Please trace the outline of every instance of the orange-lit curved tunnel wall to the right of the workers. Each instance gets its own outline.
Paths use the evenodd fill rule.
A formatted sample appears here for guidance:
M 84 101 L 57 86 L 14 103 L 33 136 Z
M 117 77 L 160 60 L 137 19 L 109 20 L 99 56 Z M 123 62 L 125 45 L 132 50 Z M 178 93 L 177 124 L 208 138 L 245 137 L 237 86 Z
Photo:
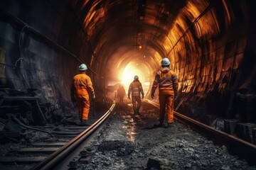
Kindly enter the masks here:
M 181 12 L 188 30 L 177 26 L 183 36 L 170 53 L 179 77 L 179 111 L 204 123 L 210 116 L 255 123 L 254 3 L 225 3 L 211 1 L 196 22 Z

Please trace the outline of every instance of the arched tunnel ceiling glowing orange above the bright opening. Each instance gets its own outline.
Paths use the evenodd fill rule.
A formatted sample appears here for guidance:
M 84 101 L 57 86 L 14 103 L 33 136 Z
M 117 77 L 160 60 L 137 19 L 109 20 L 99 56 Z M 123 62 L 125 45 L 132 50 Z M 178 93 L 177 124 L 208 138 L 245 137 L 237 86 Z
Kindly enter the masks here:
M 79 4 L 76 2 L 73 5 Z M 97 61 L 112 69 L 112 75 L 103 77 L 116 77 L 114 73 L 137 60 L 145 63 L 150 70 L 159 67 L 159 61 L 167 54 L 163 41 L 171 27 L 168 18 L 174 20 L 185 1 L 174 4 L 176 10 L 169 17 L 172 4 L 164 1 L 95 1 L 78 8 L 78 15 L 84 16 L 81 20 L 92 40 Z M 90 8 L 88 14 L 91 15 L 82 15 L 86 8 Z M 167 40 L 165 43 L 171 44 L 170 39 Z M 142 48 L 139 48 L 140 45 Z M 114 68 L 114 63 L 119 67 Z

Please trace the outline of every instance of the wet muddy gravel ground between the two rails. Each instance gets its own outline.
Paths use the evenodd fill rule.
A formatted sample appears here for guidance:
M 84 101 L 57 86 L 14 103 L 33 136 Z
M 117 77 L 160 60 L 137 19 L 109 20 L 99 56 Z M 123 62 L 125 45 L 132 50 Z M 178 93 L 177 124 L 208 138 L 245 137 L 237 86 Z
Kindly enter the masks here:
M 92 145 L 98 148 L 82 169 L 256 169 L 230 155 L 198 132 L 175 120 L 174 127 L 152 128 L 159 110 L 142 104 L 134 116 L 130 104 L 119 104 Z

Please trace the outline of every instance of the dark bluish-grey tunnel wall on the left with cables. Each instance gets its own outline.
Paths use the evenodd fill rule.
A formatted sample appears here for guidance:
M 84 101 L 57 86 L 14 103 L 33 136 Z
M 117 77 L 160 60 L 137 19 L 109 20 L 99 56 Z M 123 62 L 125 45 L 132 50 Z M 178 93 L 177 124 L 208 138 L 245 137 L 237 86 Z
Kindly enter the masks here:
M 69 106 L 72 78 L 90 61 L 70 1 L 1 1 L 0 7 L 1 89 Z

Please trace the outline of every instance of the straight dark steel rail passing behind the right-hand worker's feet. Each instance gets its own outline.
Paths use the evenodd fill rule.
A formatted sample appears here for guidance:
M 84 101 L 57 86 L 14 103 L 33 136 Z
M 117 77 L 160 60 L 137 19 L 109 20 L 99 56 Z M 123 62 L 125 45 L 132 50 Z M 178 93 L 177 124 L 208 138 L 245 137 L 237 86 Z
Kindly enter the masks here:
M 151 105 L 159 108 L 159 103 L 155 103 L 148 99 L 145 101 L 148 101 Z M 241 140 L 240 138 L 226 132 L 216 130 L 215 128 L 200 123 L 197 120 L 193 120 L 192 118 L 188 118 L 186 115 L 182 115 L 176 111 L 174 111 L 174 118 L 180 120 L 186 125 L 196 128 L 196 130 L 199 130 L 200 132 L 203 132 L 206 137 L 219 145 L 226 145 L 230 154 L 237 154 L 239 157 L 246 159 L 249 164 L 256 164 L 256 145 L 246 142 L 245 140 Z

